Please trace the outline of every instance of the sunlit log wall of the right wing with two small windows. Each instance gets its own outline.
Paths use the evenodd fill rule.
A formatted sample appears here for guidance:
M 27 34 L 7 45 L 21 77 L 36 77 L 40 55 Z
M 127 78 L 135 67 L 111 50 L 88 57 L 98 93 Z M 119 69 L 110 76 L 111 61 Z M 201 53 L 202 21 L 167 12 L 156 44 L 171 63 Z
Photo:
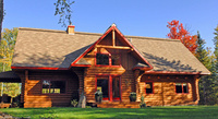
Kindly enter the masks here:
M 145 93 L 145 82 L 152 81 L 154 94 Z M 175 83 L 187 83 L 189 93 L 175 93 Z M 196 86 L 194 76 L 189 75 L 143 75 L 140 94 L 145 97 L 147 106 L 196 105 Z

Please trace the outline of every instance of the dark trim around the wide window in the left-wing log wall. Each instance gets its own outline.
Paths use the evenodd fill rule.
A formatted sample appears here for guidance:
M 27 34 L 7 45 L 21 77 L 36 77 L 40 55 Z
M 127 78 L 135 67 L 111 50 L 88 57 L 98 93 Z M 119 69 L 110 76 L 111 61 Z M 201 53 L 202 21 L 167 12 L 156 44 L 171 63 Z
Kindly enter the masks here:
M 65 92 L 64 92 L 64 93 L 60 93 L 60 94 L 58 94 L 58 93 L 45 93 L 45 94 L 44 94 L 44 93 L 43 93 L 43 86 L 44 86 L 43 83 L 44 83 L 45 80 L 46 80 L 46 81 L 63 81 L 63 82 L 65 82 Z M 41 87 L 41 88 L 40 88 L 40 94 L 41 94 L 41 95 L 64 95 L 64 94 L 68 93 L 68 90 L 66 90 L 66 88 L 68 88 L 68 82 L 66 82 L 66 80 L 60 80 L 60 79 L 41 79 L 40 84 L 41 84 L 41 85 L 40 85 L 40 87 Z

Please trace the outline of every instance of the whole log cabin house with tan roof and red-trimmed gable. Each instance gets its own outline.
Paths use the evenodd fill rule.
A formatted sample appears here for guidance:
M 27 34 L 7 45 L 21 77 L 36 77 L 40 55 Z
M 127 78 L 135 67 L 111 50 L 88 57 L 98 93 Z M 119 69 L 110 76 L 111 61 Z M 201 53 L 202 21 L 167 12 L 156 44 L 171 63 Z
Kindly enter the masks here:
M 19 29 L 12 71 L 24 107 L 70 106 L 82 92 L 97 107 L 197 105 L 198 80 L 210 72 L 179 39 L 124 36 L 114 24 L 104 34 Z M 130 93 L 137 94 L 130 102 Z

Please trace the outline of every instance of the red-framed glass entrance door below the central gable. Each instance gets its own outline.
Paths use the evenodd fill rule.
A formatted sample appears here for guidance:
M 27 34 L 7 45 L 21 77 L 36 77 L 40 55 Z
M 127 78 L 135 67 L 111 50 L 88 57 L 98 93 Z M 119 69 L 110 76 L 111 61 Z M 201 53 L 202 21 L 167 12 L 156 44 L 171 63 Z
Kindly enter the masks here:
M 120 100 L 120 76 L 97 76 L 96 90 L 102 92 L 102 100 Z

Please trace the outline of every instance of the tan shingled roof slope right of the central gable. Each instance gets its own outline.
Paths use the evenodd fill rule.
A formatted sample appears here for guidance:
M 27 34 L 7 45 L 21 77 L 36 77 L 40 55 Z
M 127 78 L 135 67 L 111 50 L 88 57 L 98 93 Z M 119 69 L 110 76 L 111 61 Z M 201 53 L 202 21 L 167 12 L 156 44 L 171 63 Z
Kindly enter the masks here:
M 132 38 L 132 44 L 154 67 L 152 71 L 199 72 L 201 74 L 210 74 L 202 62 L 179 39 L 128 37 Z

